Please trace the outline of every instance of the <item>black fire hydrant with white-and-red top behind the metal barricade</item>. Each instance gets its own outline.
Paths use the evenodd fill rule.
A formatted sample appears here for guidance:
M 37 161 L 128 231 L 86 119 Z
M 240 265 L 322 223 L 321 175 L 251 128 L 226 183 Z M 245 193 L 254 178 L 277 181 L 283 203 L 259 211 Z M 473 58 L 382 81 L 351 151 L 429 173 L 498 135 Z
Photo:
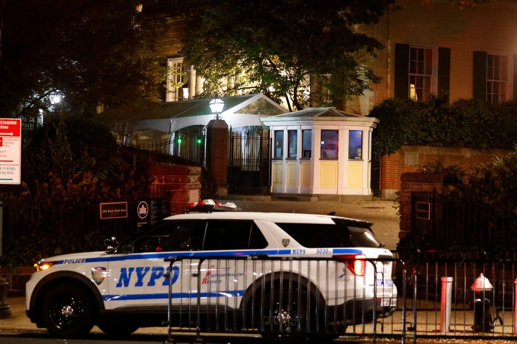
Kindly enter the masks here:
M 487 332 L 494 328 L 492 314 L 490 314 L 490 300 L 485 298 L 485 292 L 493 289 L 492 284 L 480 274 L 470 289 L 474 291 L 474 332 Z

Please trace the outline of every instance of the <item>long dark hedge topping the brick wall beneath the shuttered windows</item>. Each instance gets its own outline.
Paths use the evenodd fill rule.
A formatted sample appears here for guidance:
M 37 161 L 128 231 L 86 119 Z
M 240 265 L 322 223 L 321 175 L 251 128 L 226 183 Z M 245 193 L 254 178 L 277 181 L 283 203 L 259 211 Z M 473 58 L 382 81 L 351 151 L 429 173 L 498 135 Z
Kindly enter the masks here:
M 387 99 L 369 115 L 380 120 L 373 132 L 373 159 L 404 145 L 511 149 L 517 142 L 516 105 L 465 99 L 449 104 L 443 96 L 426 102 Z

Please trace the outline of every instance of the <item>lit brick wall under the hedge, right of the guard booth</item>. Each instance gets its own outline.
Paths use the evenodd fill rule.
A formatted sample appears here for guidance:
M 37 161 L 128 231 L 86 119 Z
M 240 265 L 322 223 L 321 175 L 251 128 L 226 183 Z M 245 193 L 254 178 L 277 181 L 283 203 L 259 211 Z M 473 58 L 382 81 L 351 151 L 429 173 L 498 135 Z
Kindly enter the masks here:
M 495 157 L 509 153 L 503 149 L 478 151 L 470 148 L 403 146 L 394 154 L 384 155 L 381 160 L 381 197 L 395 199 L 401 190 L 401 175 L 419 170 L 419 165 L 444 160 L 464 168 L 480 167 L 491 163 Z

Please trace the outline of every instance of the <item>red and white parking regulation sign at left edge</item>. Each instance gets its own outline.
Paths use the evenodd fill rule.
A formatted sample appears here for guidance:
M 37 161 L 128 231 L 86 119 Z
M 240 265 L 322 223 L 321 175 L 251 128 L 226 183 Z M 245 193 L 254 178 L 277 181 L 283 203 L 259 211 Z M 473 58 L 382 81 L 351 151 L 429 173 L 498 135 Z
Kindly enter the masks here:
M 22 120 L 0 118 L 0 184 L 20 184 Z

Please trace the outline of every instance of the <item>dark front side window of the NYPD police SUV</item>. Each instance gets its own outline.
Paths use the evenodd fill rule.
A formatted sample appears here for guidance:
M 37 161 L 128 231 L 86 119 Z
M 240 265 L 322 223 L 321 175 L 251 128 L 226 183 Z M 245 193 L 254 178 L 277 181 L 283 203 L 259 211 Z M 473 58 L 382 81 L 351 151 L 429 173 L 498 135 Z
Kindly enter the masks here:
M 206 221 L 165 221 L 134 244 L 134 252 L 199 251 Z

